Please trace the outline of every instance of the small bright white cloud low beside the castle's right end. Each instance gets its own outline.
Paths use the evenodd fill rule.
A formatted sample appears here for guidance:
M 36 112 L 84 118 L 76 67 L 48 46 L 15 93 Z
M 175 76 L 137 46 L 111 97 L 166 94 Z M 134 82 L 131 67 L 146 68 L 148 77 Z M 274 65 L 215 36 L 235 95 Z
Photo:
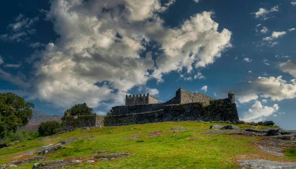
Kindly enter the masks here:
M 244 117 L 241 119 L 246 122 L 251 121 L 262 121 L 265 117 L 273 115 L 280 107 L 278 104 L 273 104 L 272 107 L 263 106 L 260 101 L 256 101 L 255 104 L 249 109 L 248 112 L 244 113 Z

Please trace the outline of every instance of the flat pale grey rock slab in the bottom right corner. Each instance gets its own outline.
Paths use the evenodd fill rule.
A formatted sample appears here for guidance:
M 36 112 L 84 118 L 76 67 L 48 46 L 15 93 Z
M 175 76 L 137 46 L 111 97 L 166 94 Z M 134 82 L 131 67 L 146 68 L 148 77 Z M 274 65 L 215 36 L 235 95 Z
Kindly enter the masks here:
M 243 169 L 296 169 L 296 163 L 279 163 L 267 160 L 242 160 Z

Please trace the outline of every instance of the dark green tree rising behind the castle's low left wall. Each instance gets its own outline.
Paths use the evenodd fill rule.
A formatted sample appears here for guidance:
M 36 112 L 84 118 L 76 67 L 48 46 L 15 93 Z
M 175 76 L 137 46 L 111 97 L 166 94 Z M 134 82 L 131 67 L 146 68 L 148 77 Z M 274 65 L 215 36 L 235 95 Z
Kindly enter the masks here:
M 65 116 L 69 114 L 70 116 L 79 116 L 79 115 L 95 115 L 93 113 L 93 108 L 88 107 L 86 103 L 75 104 L 72 108 L 65 111 Z

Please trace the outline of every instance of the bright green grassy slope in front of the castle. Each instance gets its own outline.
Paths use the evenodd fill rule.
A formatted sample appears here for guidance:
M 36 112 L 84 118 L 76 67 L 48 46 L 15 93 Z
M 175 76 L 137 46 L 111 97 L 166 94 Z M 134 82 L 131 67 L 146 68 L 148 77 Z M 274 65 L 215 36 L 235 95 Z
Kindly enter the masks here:
M 125 159 L 109 162 L 99 160 L 98 163 L 76 166 L 75 169 L 239 169 L 236 164 L 240 157 L 252 156 L 259 152 L 251 142 L 259 138 L 241 135 L 204 135 L 214 123 L 197 122 L 165 122 L 145 125 L 106 127 L 90 131 L 75 130 L 73 132 L 51 137 L 61 137 L 52 141 L 41 141 L 42 138 L 18 143 L 12 147 L 0 149 L 0 164 L 32 156 L 23 156 L 22 152 L 36 150 L 38 147 L 57 143 L 59 140 L 76 137 L 79 141 L 67 144 L 65 148 L 46 156 L 49 160 L 71 157 L 91 157 L 92 152 L 106 150 L 110 153 L 132 152 Z M 172 127 L 183 126 L 185 131 L 176 131 L 167 135 Z M 263 126 L 238 125 L 241 128 L 264 128 Z M 162 130 L 158 137 L 149 138 L 149 132 Z M 115 131 L 115 133 L 110 133 Z M 125 140 L 134 135 L 141 135 L 135 140 Z M 83 139 L 94 136 L 92 139 Z M 187 138 L 197 138 L 190 140 Z M 144 140 L 144 142 L 136 142 Z M 21 145 L 26 145 L 22 147 Z M 274 157 L 267 154 L 267 159 L 295 161 L 291 157 Z M 261 157 L 262 158 L 262 157 Z M 21 165 L 19 169 L 31 169 L 33 164 Z

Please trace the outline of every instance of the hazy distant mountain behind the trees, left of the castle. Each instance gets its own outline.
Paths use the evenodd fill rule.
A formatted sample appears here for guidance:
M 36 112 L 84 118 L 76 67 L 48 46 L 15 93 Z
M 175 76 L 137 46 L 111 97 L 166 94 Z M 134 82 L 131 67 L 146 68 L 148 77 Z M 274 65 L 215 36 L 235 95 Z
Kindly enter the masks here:
M 36 132 L 38 130 L 38 126 L 42 122 L 47 121 L 58 121 L 62 122 L 62 117 L 57 114 L 51 116 L 49 114 L 46 114 L 39 110 L 33 110 L 33 116 L 29 120 L 29 123 L 25 127 L 18 128 L 19 131 L 27 130 L 27 131 L 33 131 Z

